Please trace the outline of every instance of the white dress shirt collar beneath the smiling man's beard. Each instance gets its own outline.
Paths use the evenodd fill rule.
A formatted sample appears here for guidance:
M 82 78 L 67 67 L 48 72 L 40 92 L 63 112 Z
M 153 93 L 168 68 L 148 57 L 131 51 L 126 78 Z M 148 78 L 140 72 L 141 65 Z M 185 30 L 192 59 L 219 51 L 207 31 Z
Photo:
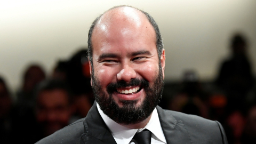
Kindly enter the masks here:
M 129 129 L 125 126 L 122 126 L 116 123 L 115 121 L 113 121 L 111 118 L 109 118 L 107 115 L 103 113 L 98 103 L 97 103 L 97 108 L 101 117 L 103 118 L 103 121 L 108 126 L 117 144 L 129 144 L 133 136 L 135 135 L 135 133 L 137 131 L 142 131 L 141 129 Z M 166 140 L 165 140 L 164 133 L 158 118 L 158 113 L 156 108 L 154 109 L 148 124 L 142 129 L 148 129 L 152 133 L 151 144 L 156 144 L 156 143 L 166 144 Z

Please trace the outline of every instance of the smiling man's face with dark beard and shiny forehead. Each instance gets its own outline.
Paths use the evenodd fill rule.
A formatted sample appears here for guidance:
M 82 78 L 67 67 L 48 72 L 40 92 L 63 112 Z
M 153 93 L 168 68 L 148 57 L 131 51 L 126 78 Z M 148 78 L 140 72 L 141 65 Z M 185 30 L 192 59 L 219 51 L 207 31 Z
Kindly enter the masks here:
M 154 28 L 142 13 L 131 7 L 119 12 L 103 15 L 93 30 L 92 87 L 106 115 L 134 124 L 161 98 L 165 57 L 159 61 Z

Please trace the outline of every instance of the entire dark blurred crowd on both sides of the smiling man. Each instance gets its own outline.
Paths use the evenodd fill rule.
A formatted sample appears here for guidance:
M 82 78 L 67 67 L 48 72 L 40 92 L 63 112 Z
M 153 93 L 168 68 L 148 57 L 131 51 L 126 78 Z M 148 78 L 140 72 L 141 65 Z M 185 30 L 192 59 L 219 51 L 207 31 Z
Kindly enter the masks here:
M 182 82 L 165 82 L 164 109 L 219 121 L 229 143 L 256 142 L 256 85 L 241 34 L 231 38 L 231 56 L 220 63 L 213 82 L 201 82 L 186 70 Z M 16 100 L 0 76 L 0 143 L 35 143 L 87 115 L 94 98 L 87 50 L 56 63 L 46 76 L 42 66 L 29 65 Z

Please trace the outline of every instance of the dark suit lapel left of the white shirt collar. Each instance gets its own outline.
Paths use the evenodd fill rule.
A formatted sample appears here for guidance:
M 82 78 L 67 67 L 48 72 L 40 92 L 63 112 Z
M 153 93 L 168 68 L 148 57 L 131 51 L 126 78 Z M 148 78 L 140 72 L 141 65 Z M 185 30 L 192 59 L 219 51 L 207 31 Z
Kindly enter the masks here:
M 88 112 L 84 120 L 85 133 L 81 135 L 84 143 L 115 143 L 107 125 L 103 121 L 97 109 L 96 102 Z

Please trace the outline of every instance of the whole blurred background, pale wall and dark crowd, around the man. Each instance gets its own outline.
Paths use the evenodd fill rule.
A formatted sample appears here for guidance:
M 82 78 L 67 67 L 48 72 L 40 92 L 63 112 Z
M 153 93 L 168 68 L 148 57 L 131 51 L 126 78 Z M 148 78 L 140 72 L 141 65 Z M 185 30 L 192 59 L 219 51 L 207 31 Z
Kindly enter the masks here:
M 221 122 L 256 142 L 256 1 L 0 2 L 0 143 L 34 143 L 94 101 L 87 34 L 115 5 L 151 14 L 166 51 L 159 106 Z M 12 135 L 17 135 L 13 139 Z

